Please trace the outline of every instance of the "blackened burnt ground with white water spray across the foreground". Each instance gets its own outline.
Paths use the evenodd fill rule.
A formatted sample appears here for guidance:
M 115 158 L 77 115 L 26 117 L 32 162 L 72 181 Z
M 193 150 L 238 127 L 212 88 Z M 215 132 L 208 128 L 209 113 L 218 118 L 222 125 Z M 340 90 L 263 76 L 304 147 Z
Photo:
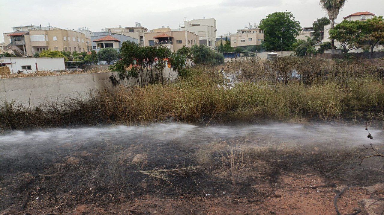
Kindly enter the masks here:
M 343 124 L 152 124 L 0 136 L 9 214 L 352 213 L 382 182 L 381 130 Z M 318 186 L 318 189 L 306 188 Z M 247 205 L 247 207 L 244 207 Z M 313 206 L 316 207 L 313 207 Z M 10 212 L 9 212 L 10 211 Z M 272 213 L 272 214 L 273 214 Z

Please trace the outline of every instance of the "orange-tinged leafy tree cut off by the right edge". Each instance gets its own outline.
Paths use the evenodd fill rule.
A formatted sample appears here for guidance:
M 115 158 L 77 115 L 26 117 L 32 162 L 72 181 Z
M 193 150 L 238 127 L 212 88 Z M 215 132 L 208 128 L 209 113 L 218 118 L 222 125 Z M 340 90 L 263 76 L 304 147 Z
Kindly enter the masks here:
M 369 46 L 371 52 L 377 43 L 384 42 L 384 19 L 382 16 L 374 16 L 372 19 L 360 21 L 358 28 L 361 31 L 358 43 L 362 46 Z

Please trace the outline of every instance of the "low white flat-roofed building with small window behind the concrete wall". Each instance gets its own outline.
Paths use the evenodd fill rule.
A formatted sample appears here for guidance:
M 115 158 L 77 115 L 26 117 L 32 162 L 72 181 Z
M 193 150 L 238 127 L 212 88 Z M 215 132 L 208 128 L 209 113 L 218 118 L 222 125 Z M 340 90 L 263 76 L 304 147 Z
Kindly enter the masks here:
M 0 66 L 9 67 L 11 73 L 65 70 L 64 58 L 0 57 Z

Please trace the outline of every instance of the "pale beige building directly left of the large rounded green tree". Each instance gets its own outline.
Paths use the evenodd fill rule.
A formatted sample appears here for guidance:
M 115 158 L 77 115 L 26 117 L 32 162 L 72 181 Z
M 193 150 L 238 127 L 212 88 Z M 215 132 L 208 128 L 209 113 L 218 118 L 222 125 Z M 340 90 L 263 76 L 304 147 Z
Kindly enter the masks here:
M 261 45 L 264 41 L 264 31 L 255 24 L 250 28 L 238 29 L 230 38 L 232 47 Z

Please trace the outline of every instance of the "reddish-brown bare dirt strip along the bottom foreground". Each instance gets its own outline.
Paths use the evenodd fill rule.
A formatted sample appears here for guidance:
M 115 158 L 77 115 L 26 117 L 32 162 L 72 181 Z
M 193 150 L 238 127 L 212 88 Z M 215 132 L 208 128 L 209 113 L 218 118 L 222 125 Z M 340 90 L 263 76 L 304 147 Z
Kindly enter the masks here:
M 83 190 L 52 197 L 51 193 L 37 190 L 31 195 L 25 210 L 20 209 L 23 203 L 20 202 L 20 205 L 15 204 L 3 211 L 3 214 L 334 215 L 333 200 L 338 193 L 334 186 L 303 188 L 333 183 L 337 186 L 344 185 L 311 173 L 291 173 L 281 174 L 275 182 L 266 177 L 265 180 L 248 187 L 247 192 L 241 191 L 243 186 L 240 185 L 235 192 L 217 189 L 214 193 L 207 193 L 203 190 L 200 195 L 182 192 L 108 194 L 108 191 L 95 191 L 84 187 Z M 146 184 L 142 186 L 145 187 Z M 3 190 L 0 197 L 4 195 L 7 195 L 7 191 Z M 353 213 L 354 208 L 358 207 L 357 201 L 367 197 L 369 195 L 362 187 L 351 187 L 338 200 L 340 212 Z

